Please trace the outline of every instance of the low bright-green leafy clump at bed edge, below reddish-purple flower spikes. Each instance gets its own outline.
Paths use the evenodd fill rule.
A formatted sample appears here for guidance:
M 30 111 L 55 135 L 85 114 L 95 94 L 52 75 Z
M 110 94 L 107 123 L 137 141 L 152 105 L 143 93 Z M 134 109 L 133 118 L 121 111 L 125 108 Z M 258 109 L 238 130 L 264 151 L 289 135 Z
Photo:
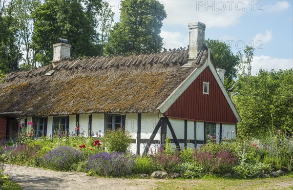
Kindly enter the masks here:
M 181 165 L 181 174 L 184 178 L 198 178 L 204 169 L 195 162 L 185 162 Z

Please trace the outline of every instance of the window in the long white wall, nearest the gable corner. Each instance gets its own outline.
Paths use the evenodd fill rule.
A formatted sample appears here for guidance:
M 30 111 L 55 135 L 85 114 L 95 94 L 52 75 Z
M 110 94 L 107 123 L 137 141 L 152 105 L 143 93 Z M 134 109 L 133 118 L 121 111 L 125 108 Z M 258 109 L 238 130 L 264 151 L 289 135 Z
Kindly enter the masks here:
M 123 124 L 125 124 L 123 115 L 105 114 L 105 131 L 122 129 Z

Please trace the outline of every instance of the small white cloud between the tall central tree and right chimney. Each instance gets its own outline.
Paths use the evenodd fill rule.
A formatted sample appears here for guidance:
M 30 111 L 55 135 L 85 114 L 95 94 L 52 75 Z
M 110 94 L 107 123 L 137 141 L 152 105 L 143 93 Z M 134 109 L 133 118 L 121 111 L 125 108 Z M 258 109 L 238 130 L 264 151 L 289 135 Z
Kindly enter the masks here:
M 170 31 L 161 31 L 161 37 L 164 38 L 163 47 L 169 49 L 187 47 L 188 38 L 185 35 L 182 35 L 180 32 L 170 32 Z

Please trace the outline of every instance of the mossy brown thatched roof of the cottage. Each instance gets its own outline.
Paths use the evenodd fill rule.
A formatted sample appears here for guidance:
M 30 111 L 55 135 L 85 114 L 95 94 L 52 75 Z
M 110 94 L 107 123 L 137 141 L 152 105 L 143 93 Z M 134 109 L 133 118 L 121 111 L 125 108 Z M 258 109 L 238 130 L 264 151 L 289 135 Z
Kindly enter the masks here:
M 188 62 L 188 50 L 180 48 L 126 57 L 69 59 L 55 68 L 48 65 L 10 73 L 0 83 L 0 113 L 48 116 L 157 112 L 157 107 L 206 58 L 205 48 L 192 68 L 182 67 Z

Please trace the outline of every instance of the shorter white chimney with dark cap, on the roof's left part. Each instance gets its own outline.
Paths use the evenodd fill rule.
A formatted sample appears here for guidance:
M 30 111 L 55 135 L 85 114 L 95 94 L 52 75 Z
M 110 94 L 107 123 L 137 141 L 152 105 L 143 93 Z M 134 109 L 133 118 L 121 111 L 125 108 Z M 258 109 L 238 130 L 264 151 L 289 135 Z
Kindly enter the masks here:
M 57 43 L 53 44 L 53 67 L 58 65 L 65 59 L 70 58 L 71 45 L 67 44 L 67 40 L 58 38 Z

